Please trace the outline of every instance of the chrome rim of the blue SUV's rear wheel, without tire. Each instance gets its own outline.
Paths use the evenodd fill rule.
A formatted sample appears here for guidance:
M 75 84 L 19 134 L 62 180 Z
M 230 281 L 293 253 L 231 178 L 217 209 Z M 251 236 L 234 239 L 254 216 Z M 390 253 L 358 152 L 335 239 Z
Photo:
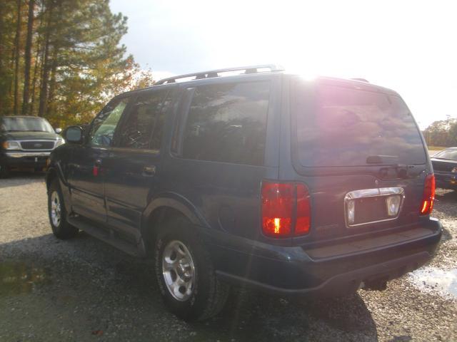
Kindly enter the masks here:
M 179 301 L 189 299 L 194 291 L 195 266 L 186 245 L 178 240 L 169 242 L 162 254 L 162 273 L 166 288 Z

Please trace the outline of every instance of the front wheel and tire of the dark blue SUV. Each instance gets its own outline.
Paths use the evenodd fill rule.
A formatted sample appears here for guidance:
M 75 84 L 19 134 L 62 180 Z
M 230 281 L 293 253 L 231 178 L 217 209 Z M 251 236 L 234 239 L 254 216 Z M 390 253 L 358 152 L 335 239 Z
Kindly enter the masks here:
M 53 180 L 48 189 L 48 214 L 49 223 L 55 237 L 71 239 L 78 234 L 78 229 L 66 221 L 67 213 L 59 180 Z

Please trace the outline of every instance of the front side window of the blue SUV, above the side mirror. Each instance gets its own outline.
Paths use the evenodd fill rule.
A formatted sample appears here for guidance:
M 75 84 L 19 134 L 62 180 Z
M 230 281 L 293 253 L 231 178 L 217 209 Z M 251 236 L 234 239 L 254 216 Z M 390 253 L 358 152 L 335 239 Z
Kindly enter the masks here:
M 110 146 L 114 136 L 114 130 L 121 119 L 129 98 L 112 100 L 106 105 L 101 113 L 96 116 L 91 127 L 91 145 Z

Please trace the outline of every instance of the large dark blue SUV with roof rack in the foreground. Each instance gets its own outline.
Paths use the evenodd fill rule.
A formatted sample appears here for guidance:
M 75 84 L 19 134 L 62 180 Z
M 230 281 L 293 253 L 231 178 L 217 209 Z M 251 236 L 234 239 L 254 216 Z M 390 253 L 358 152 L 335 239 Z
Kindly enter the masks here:
M 186 320 L 217 314 L 230 284 L 385 289 L 441 237 L 416 122 L 367 82 L 274 66 L 176 76 L 116 96 L 64 136 L 46 177 L 54 234 L 82 229 L 154 258 L 166 305 Z

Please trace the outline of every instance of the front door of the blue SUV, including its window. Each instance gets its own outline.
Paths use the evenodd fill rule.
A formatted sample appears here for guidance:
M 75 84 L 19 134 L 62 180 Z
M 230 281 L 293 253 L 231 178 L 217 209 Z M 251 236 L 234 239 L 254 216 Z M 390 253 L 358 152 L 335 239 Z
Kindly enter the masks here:
M 84 144 L 75 145 L 69 162 L 71 204 L 76 214 L 106 222 L 104 159 L 129 97 L 114 98 L 96 116 Z

